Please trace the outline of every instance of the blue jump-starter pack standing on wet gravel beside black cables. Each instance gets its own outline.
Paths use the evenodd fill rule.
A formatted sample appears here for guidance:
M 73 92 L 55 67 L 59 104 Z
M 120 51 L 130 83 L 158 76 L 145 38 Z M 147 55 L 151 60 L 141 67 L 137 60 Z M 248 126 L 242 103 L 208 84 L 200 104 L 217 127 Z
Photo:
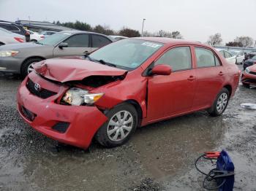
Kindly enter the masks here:
M 222 152 L 220 152 L 220 155 L 217 159 L 217 170 L 227 171 L 227 173 L 234 173 L 235 166 L 225 150 L 222 150 Z M 235 175 L 223 177 L 222 179 L 217 179 L 217 184 L 220 185 L 224 181 L 225 184 L 219 187 L 219 191 L 232 191 L 235 182 Z

